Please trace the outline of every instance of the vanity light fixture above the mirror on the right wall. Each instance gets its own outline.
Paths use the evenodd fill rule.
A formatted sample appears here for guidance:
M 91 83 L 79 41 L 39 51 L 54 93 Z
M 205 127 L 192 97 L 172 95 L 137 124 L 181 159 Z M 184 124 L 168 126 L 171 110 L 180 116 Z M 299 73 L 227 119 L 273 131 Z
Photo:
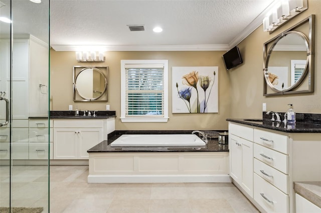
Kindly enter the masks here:
M 272 33 L 287 20 L 307 9 L 307 0 L 278 1 L 263 19 L 263 31 Z

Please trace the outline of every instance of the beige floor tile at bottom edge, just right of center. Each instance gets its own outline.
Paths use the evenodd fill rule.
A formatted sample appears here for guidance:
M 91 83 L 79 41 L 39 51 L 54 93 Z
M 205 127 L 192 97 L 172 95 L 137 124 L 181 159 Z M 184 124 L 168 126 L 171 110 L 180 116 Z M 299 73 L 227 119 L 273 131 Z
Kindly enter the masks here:
M 226 199 L 190 199 L 193 213 L 235 212 Z

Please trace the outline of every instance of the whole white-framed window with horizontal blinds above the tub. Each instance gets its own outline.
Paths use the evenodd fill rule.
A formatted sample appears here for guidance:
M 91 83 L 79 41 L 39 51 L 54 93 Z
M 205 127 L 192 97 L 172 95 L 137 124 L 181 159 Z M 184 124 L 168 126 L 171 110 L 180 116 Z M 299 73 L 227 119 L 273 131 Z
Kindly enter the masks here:
M 121 60 L 120 118 L 167 122 L 168 60 Z

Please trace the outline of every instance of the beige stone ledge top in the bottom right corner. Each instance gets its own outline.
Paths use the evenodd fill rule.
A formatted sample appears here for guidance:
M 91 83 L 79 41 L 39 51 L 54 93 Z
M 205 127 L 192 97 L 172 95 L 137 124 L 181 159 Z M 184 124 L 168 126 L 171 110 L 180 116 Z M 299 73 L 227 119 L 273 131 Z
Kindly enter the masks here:
M 321 181 L 294 182 L 295 193 L 321 208 Z

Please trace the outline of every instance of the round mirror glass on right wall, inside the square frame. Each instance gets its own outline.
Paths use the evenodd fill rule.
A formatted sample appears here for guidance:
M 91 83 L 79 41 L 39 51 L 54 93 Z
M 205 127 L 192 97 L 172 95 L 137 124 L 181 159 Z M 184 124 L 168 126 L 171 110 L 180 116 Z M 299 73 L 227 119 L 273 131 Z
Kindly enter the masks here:
M 288 91 L 308 72 L 308 40 L 298 31 L 287 31 L 271 44 L 264 63 L 266 83 L 274 91 Z

